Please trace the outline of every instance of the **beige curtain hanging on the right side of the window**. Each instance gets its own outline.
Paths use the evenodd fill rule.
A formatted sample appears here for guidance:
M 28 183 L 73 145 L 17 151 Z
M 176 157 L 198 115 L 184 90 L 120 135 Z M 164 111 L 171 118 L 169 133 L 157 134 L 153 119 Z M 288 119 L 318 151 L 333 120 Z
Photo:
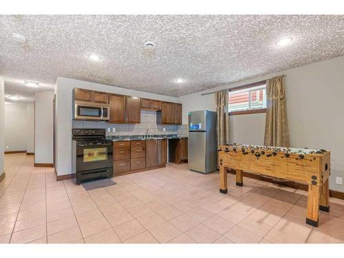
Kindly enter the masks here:
M 283 76 L 266 80 L 266 125 L 264 144 L 289 147 L 286 84 Z

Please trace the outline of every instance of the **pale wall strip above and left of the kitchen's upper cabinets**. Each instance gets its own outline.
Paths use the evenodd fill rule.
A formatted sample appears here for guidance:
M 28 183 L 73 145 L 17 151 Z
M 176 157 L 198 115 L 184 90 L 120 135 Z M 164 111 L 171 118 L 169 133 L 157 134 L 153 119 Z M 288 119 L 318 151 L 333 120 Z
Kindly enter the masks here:
M 153 98 L 178 102 L 178 98 L 140 92 L 99 83 L 89 83 L 83 80 L 58 77 L 56 80 L 56 173 L 66 175 L 72 173 L 72 90 L 74 87 L 93 89 L 100 92 L 110 92 L 141 98 Z

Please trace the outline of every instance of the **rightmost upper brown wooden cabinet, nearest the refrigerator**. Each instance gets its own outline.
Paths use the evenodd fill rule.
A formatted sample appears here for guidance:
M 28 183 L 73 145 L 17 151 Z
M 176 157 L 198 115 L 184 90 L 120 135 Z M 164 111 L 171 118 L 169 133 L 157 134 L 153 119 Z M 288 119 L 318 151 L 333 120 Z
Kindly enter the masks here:
M 160 124 L 182 125 L 182 104 L 163 102 L 160 113 Z

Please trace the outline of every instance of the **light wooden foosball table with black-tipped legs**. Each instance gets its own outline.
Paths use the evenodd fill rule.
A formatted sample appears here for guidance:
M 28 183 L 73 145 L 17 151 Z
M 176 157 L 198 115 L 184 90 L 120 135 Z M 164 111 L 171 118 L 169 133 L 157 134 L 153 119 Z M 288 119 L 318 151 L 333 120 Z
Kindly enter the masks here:
M 227 193 L 227 169 L 235 169 L 236 184 L 243 186 L 243 171 L 308 184 L 305 222 L 319 224 L 319 210 L 330 211 L 330 151 L 257 145 L 219 146 L 220 193 Z

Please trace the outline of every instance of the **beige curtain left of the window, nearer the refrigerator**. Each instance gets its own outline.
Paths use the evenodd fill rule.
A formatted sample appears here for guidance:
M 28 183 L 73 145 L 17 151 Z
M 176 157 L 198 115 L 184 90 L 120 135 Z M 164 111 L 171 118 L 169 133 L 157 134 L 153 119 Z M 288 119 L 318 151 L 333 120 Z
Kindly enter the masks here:
M 217 144 L 229 143 L 228 89 L 215 93 L 217 113 Z

